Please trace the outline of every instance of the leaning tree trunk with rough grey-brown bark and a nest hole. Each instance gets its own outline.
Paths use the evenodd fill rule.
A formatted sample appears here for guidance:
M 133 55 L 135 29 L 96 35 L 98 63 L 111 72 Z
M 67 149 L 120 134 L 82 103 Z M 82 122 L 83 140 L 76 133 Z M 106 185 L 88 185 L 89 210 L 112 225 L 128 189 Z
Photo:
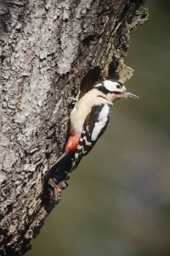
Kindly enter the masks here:
M 69 113 L 103 76 L 123 81 L 129 32 L 142 0 L 5 0 L 0 3 L 0 255 L 22 255 L 67 186 L 45 175 L 62 154 Z

